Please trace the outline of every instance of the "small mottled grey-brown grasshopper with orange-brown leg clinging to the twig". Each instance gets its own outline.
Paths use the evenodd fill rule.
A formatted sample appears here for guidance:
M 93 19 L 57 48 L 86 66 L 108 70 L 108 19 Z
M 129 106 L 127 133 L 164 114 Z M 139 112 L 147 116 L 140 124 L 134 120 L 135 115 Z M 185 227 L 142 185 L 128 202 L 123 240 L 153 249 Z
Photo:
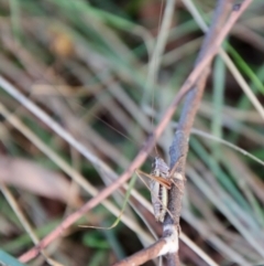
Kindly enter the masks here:
M 168 190 L 170 189 L 170 171 L 167 163 L 160 157 L 155 157 L 152 163 L 151 174 L 138 170 L 139 173 L 151 179 L 151 198 L 155 220 L 163 223 L 168 203 Z

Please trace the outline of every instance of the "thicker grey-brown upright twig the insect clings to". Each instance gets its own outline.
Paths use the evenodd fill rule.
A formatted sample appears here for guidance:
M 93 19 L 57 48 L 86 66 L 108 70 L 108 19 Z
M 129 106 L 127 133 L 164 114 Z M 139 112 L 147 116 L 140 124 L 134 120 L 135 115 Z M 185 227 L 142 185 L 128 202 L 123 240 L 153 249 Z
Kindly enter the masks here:
M 233 1 L 230 0 L 218 1 L 213 15 L 213 21 L 211 23 L 210 30 L 206 35 L 195 66 L 199 64 L 202 57 L 207 54 L 207 51 L 210 50 L 210 46 L 215 42 L 215 39 L 218 38 L 219 34 L 221 34 L 224 22 L 227 21 L 227 18 L 232 10 L 232 2 Z M 239 7 L 241 8 L 241 6 Z M 233 13 L 231 13 L 230 20 L 232 19 L 232 14 L 234 14 L 235 11 L 239 11 L 238 6 L 233 6 Z M 230 25 L 230 20 L 226 23 L 226 26 Z M 182 179 L 176 179 L 177 185 L 173 185 L 172 190 L 168 193 L 168 210 L 173 213 L 174 219 L 172 219 L 172 216 L 169 215 L 166 215 L 164 221 L 164 227 L 166 227 L 168 224 L 175 224 L 177 227 L 179 227 L 182 199 L 184 194 L 183 191 L 185 189 L 185 167 L 189 148 L 188 139 L 195 120 L 195 116 L 197 114 L 204 94 L 206 81 L 210 73 L 210 63 L 211 62 L 209 62 L 207 68 L 205 70 L 204 75 L 201 75 L 199 79 L 197 79 L 195 86 L 186 95 L 184 107 L 179 118 L 179 124 L 175 132 L 172 146 L 169 148 L 170 169 L 174 168 L 174 166 L 177 163 L 175 175 L 182 177 Z M 174 254 L 167 255 L 167 264 L 172 266 L 179 265 L 178 251 L 176 251 Z

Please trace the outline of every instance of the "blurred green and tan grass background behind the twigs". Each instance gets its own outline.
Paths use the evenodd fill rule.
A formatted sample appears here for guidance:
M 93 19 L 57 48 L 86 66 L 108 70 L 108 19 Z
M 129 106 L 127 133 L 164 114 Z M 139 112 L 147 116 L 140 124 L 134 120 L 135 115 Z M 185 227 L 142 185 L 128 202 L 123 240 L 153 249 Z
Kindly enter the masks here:
M 134 158 L 193 70 L 215 3 L 176 1 L 158 72 L 153 72 L 150 62 L 156 40 L 164 38 L 160 29 L 169 1 L 0 0 L 2 251 L 18 257 L 33 246 L 22 213 L 43 238 L 114 182 L 101 166 L 120 174 Z M 183 265 L 208 265 L 201 251 L 223 266 L 264 265 L 263 12 L 264 2 L 253 1 L 223 45 L 235 71 L 217 56 L 206 86 L 190 138 L 182 216 L 183 233 L 200 252 L 180 242 Z M 4 81 L 98 163 L 11 97 Z M 157 141 L 166 161 L 175 123 Z M 150 171 L 153 156 L 143 170 Z M 161 225 L 148 211 L 147 188 L 139 180 L 134 189 L 118 226 L 75 224 L 47 254 L 63 265 L 110 265 L 150 245 Z M 78 224 L 110 226 L 123 199 L 124 190 L 117 192 L 110 205 L 98 205 Z M 46 263 L 38 256 L 30 265 Z

